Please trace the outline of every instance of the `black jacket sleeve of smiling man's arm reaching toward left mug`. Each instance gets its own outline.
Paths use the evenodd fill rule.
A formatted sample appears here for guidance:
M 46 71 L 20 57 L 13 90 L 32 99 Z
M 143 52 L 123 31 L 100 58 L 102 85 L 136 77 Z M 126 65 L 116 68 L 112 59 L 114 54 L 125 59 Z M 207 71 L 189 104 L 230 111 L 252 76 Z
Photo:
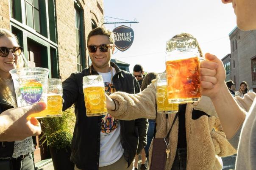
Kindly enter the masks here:
M 79 92 L 77 82 L 77 74 L 75 73 L 72 73 L 70 77 L 63 82 L 62 111 L 65 111 L 67 108 L 70 108 L 76 102 Z

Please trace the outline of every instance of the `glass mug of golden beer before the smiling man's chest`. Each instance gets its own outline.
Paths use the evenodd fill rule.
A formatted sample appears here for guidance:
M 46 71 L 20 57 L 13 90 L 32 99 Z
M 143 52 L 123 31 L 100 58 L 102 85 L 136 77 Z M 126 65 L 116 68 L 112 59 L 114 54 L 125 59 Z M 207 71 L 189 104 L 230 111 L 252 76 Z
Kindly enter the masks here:
M 86 116 L 101 116 L 107 113 L 105 86 L 101 75 L 83 77 L 83 94 Z

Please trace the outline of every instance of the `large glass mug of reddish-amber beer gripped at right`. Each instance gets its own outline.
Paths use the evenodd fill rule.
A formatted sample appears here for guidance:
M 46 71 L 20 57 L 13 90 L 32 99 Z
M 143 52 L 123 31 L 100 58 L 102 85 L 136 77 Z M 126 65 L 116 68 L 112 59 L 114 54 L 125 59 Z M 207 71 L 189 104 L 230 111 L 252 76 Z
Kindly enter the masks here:
M 200 100 L 200 62 L 195 38 L 182 37 L 167 41 L 167 96 L 169 103 Z

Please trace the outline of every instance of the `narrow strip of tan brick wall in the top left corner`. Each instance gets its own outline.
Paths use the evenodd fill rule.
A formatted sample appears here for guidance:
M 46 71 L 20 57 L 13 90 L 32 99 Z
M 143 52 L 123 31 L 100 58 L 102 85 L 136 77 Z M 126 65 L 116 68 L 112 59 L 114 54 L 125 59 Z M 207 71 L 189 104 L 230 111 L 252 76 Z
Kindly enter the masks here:
M 9 0 L 0 0 L 0 28 L 10 30 Z

